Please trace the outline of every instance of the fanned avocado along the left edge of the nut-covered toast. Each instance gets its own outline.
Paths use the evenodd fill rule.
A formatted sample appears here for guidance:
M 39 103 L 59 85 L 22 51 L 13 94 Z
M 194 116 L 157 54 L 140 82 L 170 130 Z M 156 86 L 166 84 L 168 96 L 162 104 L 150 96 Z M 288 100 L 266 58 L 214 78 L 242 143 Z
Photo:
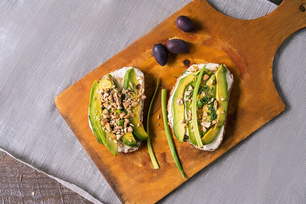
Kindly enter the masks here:
M 102 118 L 102 108 L 101 100 L 98 99 L 97 90 L 100 90 L 104 86 L 108 86 L 110 81 L 112 81 L 111 75 L 107 75 L 109 81 L 101 80 L 99 83 L 97 80 L 94 81 L 91 91 L 90 91 L 90 99 L 89 99 L 89 111 L 88 111 L 88 118 L 92 128 L 92 132 L 94 136 L 97 138 L 98 142 L 104 144 L 106 148 L 115 156 L 118 153 L 118 143 L 115 143 L 114 138 L 116 136 L 113 133 L 106 133 L 103 129 L 100 121 Z

